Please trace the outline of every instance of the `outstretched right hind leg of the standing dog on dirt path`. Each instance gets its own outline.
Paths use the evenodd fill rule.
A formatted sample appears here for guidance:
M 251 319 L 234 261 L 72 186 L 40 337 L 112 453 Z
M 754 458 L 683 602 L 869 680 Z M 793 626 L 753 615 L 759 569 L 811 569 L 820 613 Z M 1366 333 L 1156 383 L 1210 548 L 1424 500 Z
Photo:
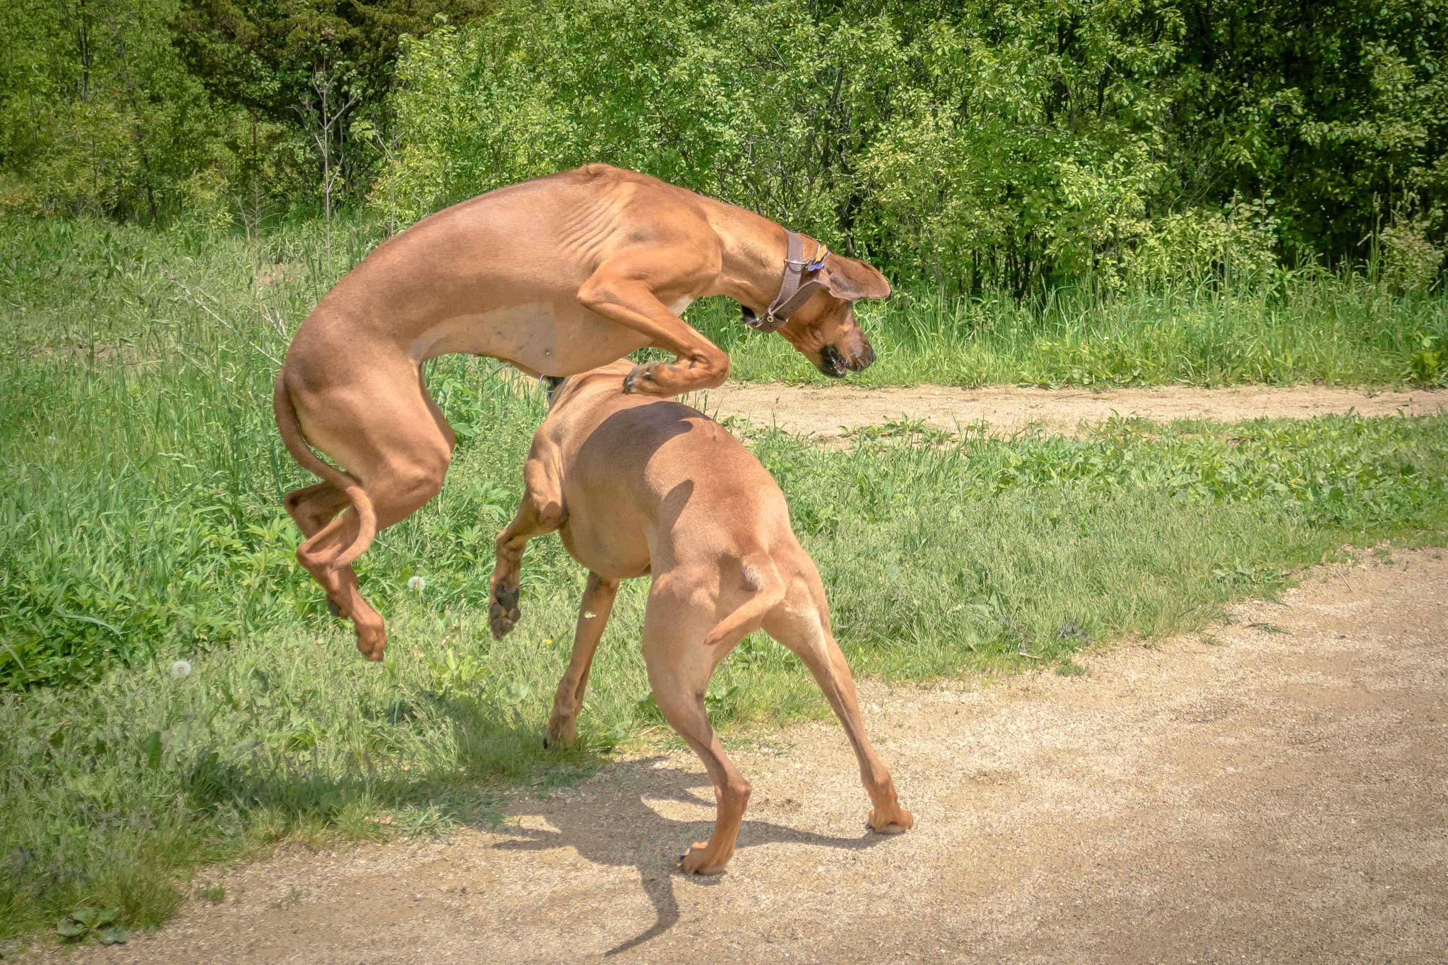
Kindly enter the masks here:
M 846 663 L 840 644 L 830 629 L 824 586 L 820 584 L 812 563 L 808 574 L 812 576 L 812 592 L 805 595 L 796 590 L 798 598 L 791 600 L 792 605 L 778 608 L 765 619 L 765 632 L 804 661 L 835 716 L 840 718 L 840 723 L 844 725 L 844 734 L 860 762 L 860 781 L 870 796 L 870 828 L 880 833 L 898 835 L 909 830 L 915 817 L 901 807 L 895 781 L 891 780 L 889 770 L 875 754 L 870 738 L 864 734 L 860 702 L 854 694 L 854 677 L 850 676 L 850 664 Z

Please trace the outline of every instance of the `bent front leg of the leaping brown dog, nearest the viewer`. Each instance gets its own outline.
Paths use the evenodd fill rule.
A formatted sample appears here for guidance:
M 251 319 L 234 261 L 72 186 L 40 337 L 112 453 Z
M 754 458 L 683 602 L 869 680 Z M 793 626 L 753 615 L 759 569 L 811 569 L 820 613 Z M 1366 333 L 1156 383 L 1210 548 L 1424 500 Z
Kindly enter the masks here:
M 634 366 L 624 376 L 624 392 L 669 398 L 724 385 L 728 354 L 669 311 L 656 289 L 640 278 L 652 278 L 649 266 L 613 259 L 578 289 L 578 301 L 584 307 L 646 334 L 649 344 L 676 356 L 673 362 Z

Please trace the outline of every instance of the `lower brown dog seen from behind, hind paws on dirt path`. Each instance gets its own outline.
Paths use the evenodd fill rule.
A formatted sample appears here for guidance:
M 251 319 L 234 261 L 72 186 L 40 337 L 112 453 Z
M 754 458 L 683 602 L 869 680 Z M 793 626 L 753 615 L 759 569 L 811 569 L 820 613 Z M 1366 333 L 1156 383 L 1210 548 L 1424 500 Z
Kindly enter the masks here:
M 588 567 L 573 657 L 557 684 L 546 744 L 572 744 L 594 650 L 618 580 L 653 576 L 643 657 L 654 702 L 704 758 L 718 800 L 707 842 L 683 870 L 715 874 L 734 854 L 750 786 L 710 728 L 704 693 L 734 645 L 763 628 L 814 674 L 860 761 L 870 828 L 899 833 L 915 819 L 895 797 L 891 773 L 860 720 L 850 667 L 830 631 L 824 584 L 789 527 L 775 480 L 723 427 L 679 402 L 618 392 L 617 362 L 550 392 L 523 469 L 527 485 L 513 522 L 498 535 L 489 592 L 494 637 L 517 622 L 518 566 L 533 537 L 557 530 Z

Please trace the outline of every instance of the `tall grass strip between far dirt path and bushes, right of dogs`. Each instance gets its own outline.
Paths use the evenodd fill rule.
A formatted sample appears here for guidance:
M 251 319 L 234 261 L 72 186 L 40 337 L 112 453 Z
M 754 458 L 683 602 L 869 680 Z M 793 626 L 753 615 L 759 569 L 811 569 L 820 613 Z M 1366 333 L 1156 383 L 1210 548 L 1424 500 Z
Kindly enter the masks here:
M 1114 297 L 1053 291 L 947 297 L 902 286 L 859 302 L 883 385 L 1373 385 L 1448 379 L 1448 298 L 1402 294 L 1352 272 L 1271 284 L 1164 282 Z M 711 299 L 689 321 L 730 353 L 734 378 L 825 383 L 782 339 L 741 331 Z

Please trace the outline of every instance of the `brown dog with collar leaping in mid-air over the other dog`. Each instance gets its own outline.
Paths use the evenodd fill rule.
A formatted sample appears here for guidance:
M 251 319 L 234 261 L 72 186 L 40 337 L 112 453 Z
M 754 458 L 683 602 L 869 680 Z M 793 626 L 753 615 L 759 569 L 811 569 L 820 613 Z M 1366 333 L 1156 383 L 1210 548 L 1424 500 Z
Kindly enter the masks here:
M 853 302 L 885 298 L 889 284 L 802 243 L 817 262 L 802 291 L 818 289 L 779 334 L 827 375 L 860 370 L 875 352 Z M 339 281 L 297 331 L 274 408 L 287 450 L 323 479 L 285 498 L 306 535 L 297 558 L 332 611 L 352 618 L 362 654 L 382 658 L 387 626 L 350 564 L 437 495 L 452 459 L 453 431 L 423 385 L 423 362 L 462 352 L 566 376 L 654 346 L 678 357 L 621 375 L 624 391 L 714 388 L 728 357 L 679 313 L 727 295 L 763 315 L 789 245 L 785 229 L 743 208 L 586 165 L 439 211 Z

